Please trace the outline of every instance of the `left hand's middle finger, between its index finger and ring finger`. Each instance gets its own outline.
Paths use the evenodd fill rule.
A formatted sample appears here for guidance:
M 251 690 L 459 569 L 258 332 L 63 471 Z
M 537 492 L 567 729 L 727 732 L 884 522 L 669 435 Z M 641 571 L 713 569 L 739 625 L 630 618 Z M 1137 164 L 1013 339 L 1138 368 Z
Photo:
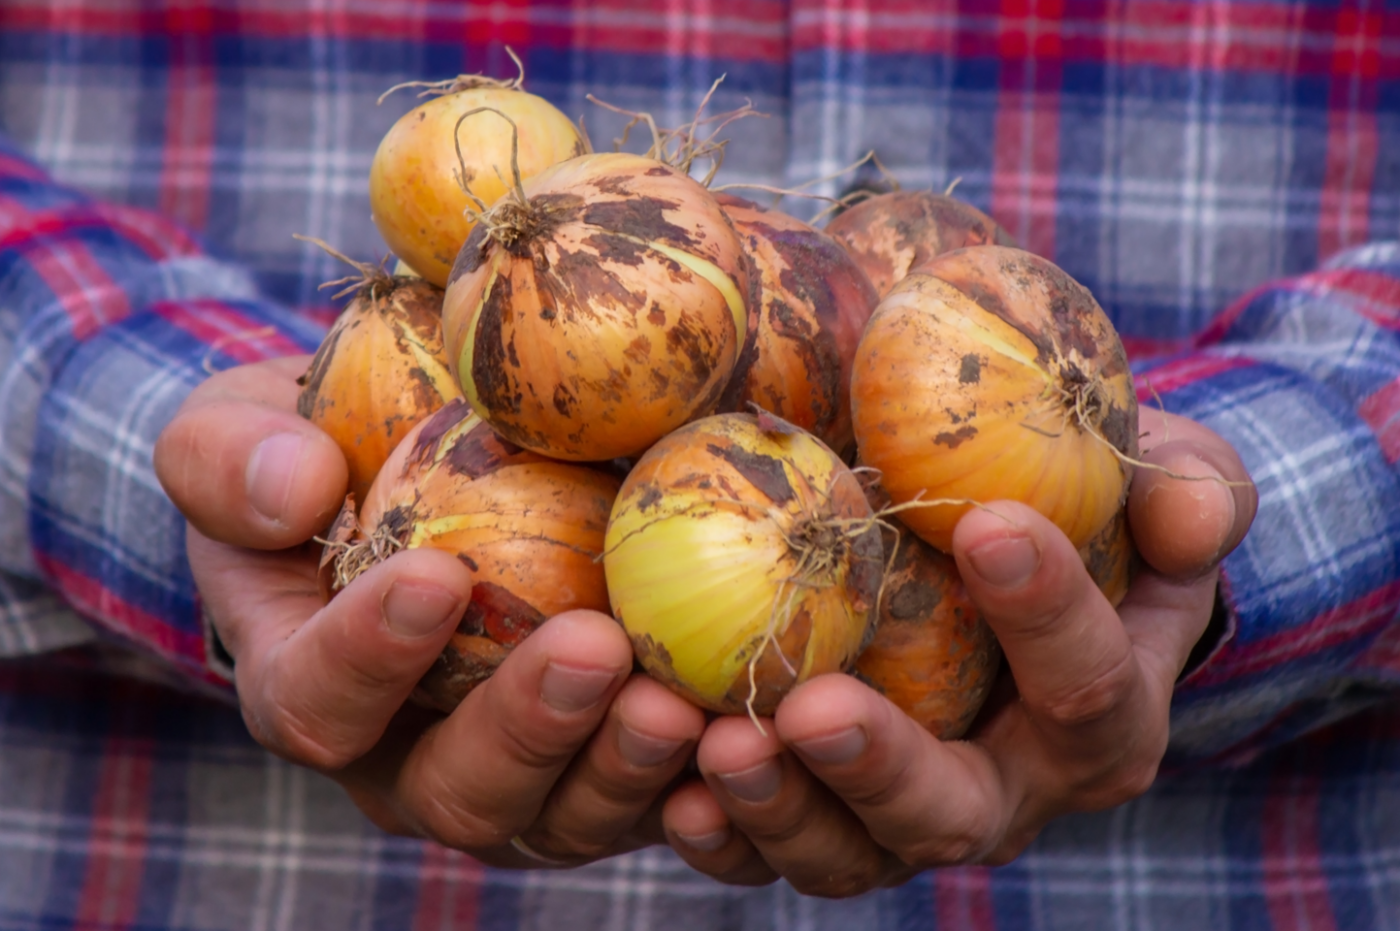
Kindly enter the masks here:
M 405 816 L 462 850 L 501 847 L 529 827 L 631 672 L 612 617 L 552 617 L 424 734 L 399 773 Z

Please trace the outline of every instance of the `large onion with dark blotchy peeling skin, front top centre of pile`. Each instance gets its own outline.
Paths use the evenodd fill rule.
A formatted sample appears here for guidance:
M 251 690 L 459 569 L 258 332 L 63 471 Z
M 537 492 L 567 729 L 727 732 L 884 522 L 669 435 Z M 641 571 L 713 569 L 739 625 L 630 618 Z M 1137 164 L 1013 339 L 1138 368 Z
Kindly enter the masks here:
M 454 372 L 503 437 L 557 459 L 633 456 L 714 409 L 748 329 L 748 260 L 714 196 L 617 153 L 525 182 L 510 245 L 479 227 L 444 301 Z

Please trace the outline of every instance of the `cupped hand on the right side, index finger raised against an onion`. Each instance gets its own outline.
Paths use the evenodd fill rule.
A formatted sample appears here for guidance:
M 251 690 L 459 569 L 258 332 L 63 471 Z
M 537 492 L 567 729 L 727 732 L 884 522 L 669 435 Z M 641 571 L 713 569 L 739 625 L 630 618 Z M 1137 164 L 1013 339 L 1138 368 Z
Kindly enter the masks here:
M 1155 410 L 1141 427 L 1159 469 L 1247 480 L 1208 428 Z M 710 725 L 703 781 L 665 804 L 672 847 L 727 882 L 783 876 L 847 896 L 930 867 L 1007 862 L 1053 818 L 1140 795 L 1166 749 L 1172 687 L 1210 620 L 1219 560 L 1256 505 L 1250 484 L 1138 469 L 1128 521 L 1145 566 L 1117 610 L 1037 512 L 1007 501 L 970 511 L 953 554 L 1011 675 L 969 739 L 939 742 L 854 678 L 813 679 L 766 735 L 746 718 Z

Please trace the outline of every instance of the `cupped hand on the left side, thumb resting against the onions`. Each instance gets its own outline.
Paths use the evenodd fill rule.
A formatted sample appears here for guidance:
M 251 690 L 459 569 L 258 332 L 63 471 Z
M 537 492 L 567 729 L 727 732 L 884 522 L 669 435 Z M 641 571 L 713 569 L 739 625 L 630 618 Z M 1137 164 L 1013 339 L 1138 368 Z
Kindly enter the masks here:
M 308 540 L 340 507 L 346 465 L 295 414 L 307 361 L 214 375 L 155 448 L 252 735 L 339 781 L 385 830 L 493 865 L 574 865 L 662 841 L 657 801 L 704 717 L 631 675 L 610 617 L 550 619 L 444 718 L 405 700 L 470 598 L 461 561 L 406 550 L 322 603 Z

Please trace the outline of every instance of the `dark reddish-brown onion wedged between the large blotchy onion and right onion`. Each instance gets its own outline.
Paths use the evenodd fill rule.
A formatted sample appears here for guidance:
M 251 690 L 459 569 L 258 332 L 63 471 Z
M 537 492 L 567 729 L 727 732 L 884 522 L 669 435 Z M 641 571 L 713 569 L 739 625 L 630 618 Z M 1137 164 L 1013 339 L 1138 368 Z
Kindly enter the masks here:
M 875 311 L 875 287 L 825 232 L 742 197 L 715 199 L 753 262 L 756 309 L 720 410 L 748 412 L 755 403 L 846 451 L 851 358 Z

